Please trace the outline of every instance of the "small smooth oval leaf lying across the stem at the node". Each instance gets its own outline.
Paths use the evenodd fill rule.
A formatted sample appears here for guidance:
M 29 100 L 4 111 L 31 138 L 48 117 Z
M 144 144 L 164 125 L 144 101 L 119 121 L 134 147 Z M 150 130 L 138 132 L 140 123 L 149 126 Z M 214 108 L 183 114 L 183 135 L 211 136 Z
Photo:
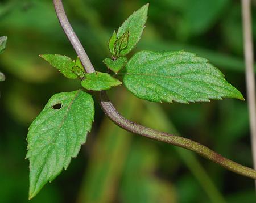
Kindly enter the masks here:
M 94 72 L 86 74 L 81 84 L 86 90 L 101 91 L 109 90 L 111 87 L 118 86 L 122 83 L 108 73 Z

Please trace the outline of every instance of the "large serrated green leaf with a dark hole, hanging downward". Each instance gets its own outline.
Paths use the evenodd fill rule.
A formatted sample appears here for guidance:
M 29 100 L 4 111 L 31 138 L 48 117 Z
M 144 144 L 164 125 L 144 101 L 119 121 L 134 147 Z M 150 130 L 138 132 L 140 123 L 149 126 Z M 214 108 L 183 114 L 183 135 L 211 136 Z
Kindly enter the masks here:
M 94 102 L 82 90 L 55 94 L 28 129 L 30 192 L 34 197 L 48 182 L 67 169 L 92 127 Z

